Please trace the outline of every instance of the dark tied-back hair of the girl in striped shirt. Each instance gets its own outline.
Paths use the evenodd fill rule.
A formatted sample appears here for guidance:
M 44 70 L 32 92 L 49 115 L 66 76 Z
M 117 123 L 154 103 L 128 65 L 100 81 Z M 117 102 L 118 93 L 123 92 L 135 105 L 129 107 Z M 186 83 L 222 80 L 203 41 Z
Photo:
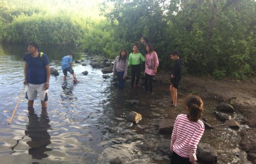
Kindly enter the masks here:
M 186 106 L 188 109 L 187 117 L 189 121 L 196 122 L 203 115 L 203 101 L 198 96 L 190 96 L 188 100 L 186 100 Z

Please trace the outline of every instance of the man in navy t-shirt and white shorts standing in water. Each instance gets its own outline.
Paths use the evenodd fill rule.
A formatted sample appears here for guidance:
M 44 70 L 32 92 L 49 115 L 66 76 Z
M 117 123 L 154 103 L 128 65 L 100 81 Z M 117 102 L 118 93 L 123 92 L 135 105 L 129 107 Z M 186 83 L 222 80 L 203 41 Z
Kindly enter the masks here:
M 24 85 L 27 85 L 26 98 L 28 110 L 33 110 L 34 100 L 40 97 L 42 110 L 46 110 L 48 101 L 48 88 L 50 82 L 49 59 L 45 53 L 38 52 L 38 44 L 28 44 L 28 53 L 24 55 Z

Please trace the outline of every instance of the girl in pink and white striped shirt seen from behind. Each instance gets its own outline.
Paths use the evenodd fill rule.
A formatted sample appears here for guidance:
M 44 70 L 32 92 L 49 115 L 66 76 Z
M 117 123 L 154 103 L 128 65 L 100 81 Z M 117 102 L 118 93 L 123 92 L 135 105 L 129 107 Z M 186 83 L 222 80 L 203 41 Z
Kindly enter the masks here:
M 203 101 L 198 96 L 190 96 L 186 101 L 187 115 L 178 115 L 171 135 L 171 164 L 195 163 L 196 148 L 204 133 Z

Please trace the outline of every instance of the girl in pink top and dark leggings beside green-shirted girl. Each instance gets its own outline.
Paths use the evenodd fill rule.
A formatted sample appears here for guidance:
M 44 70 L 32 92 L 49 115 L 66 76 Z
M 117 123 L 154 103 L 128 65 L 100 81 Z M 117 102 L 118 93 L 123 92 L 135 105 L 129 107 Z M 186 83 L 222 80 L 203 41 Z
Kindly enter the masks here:
M 153 77 L 157 72 L 159 64 L 158 57 L 155 51 L 153 51 L 151 44 L 146 44 L 146 55 L 145 55 L 145 91 L 149 86 L 150 92 L 153 91 Z

